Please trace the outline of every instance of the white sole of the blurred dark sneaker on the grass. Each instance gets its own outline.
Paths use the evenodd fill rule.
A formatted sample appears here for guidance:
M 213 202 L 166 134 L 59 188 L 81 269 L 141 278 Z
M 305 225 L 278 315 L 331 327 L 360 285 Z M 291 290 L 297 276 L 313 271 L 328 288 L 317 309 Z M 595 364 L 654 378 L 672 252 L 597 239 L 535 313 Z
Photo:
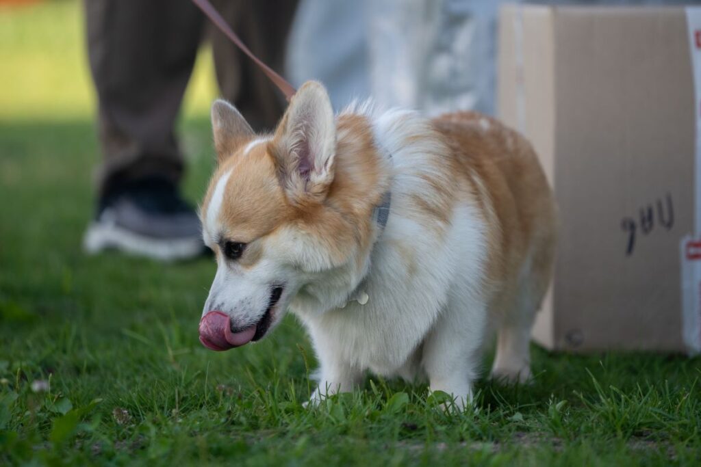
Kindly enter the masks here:
M 196 258 L 202 255 L 204 246 L 199 238 L 158 239 L 139 235 L 117 225 L 92 223 L 83 237 L 83 249 L 89 254 L 118 250 L 132 256 L 173 261 Z

